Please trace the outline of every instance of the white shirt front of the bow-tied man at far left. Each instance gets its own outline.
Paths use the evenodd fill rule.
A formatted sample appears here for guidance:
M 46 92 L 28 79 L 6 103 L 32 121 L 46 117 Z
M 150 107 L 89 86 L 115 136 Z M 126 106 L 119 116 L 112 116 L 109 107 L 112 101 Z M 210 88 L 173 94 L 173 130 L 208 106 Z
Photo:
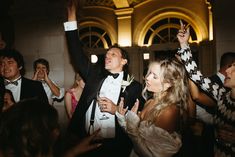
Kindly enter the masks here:
M 18 82 L 17 86 L 14 85 L 14 84 L 8 84 L 8 85 L 5 86 L 6 89 L 9 89 L 12 92 L 12 95 L 14 97 L 15 102 L 19 102 L 20 101 L 20 91 L 21 91 L 21 82 L 22 82 L 22 79 L 20 77 L 15 79 L 15 80 L 13 80 L 13 81 L 18 80 L 17 81 Z M 7 80 L 7 81 L 9 81 L 9 80 Z

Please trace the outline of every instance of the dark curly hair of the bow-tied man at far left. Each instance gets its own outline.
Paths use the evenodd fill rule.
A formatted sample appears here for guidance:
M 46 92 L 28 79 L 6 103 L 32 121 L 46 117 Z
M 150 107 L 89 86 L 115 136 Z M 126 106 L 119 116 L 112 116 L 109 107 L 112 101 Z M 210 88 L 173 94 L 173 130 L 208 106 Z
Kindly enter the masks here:
M 24 58 L 19 51 L 15 49 L 5 49 L 1 51 L 0 55 L 2 58 L 13 58 L 16 61 L 18 68 L 22 67 L 20 69 L 20 74 L 25 74 Z

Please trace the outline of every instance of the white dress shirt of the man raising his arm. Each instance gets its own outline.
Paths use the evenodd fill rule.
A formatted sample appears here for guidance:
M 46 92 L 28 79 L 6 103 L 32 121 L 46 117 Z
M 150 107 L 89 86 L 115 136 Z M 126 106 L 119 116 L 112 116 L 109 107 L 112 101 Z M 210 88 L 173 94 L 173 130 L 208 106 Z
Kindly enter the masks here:
M 120 72 L 119 76 L 116 79 L 114 79 L 112 76 L 108 76 L 104 80 L 104 82 L 100 88 L 101 97 L 107 97 L 114 104 L 117 104 L 118 98 L 120 95 L 122 79 L 123 79 L 123 72 Z M 90 104 L 90 107 L 86 112 L 86 130 L 87 130 L 87 132 L 88 132 L 89 126 L 90 126 L 92 104 L 93 104 L 93 102 Z M 106 120 L 100 120 L 100 118 L 102 117 L 103 114 L 105 114 L 109 118 Z M 95 118 L 94 118 L 94 130 L 97 130 L 98 128 L 101 128 L 101 131 L 100 131 L 101 137 L 103 137 L 103 138 L 114 138 L 115 137 L 115 115 L 112 115 L 108 112 L 101 112 L 100 108 L 98 106 L 98 103 L 96 103 Z

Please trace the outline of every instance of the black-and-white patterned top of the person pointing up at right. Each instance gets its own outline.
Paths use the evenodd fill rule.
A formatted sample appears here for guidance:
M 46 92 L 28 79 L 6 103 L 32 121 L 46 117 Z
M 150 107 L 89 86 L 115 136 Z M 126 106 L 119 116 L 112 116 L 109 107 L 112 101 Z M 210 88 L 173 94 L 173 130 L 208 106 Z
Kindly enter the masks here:
M 217 101 L 216 112 L 213 115 L 215 126 L 229 125 L 235 127 L 235 100 L 230 97 L 230 92 L 226 92 L 223 86 L 211 82 L 208 77 L 204 77 L 199 71 L 196 62 L 193 60 L 190 47 L 178 50 L 178 55 L 189 74 L 192 81 L 198 84 L 202 90 L 209 93 Z M 216 155 L 235 156 L 235 144 L 215 142 Z

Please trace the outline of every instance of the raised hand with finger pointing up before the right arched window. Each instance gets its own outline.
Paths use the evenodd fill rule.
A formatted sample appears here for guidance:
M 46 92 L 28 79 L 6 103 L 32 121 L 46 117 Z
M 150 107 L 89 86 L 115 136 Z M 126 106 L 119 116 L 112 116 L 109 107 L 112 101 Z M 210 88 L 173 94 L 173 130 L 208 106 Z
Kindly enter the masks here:
M 185 24 L 180 20 L 180 30 L 177 34 L 177 38 L 179 40 L 181 48 L 188 47 L 188 40 L 190 37 L 189 27 L 186 27 Z

